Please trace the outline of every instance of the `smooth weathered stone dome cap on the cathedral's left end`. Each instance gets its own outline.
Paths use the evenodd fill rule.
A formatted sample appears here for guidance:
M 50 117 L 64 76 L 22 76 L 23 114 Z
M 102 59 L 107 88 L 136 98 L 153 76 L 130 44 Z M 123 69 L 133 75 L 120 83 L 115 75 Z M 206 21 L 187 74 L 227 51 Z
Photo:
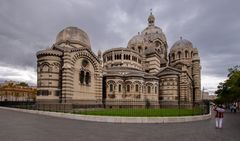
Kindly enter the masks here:
M 80 44 L 89 48 L 91 47 L 87 33 L 77 27 L 67 27 L 58 33 L 56 44 L 64 42 Z

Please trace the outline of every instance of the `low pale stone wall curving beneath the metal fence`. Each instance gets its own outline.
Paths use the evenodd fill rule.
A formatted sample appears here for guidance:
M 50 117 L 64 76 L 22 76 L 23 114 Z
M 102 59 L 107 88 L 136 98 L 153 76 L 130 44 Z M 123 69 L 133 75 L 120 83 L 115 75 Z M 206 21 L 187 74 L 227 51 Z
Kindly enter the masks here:
M 39 115 L 47 115 L 52 117 L 60 117 L 66 119 L 95 121 L 95 122 L 112 122 L 112 123 L 177 123 L 177 122 L 191 122 L 199 120 L 207 120 L 211 118 L 211 113 L 207 115 L 198 116 L 181 116 L 181 117 L 115 117 L 115 116 L 91 116 L 78 115 L 70 113 L 57 113 L 47 111 L 26 110 L 17 108 L 0 107 L 0 109 L 20 111 L 26 113 L 33 113 Z

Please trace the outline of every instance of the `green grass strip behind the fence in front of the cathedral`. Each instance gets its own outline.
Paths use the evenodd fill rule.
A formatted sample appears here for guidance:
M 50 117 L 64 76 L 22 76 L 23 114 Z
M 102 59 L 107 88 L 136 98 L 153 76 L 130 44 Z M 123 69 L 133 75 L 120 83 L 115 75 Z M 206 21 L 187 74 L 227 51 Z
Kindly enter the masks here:
M 201 115 L 203 114 L 203 109 L 85 109 L 74 112 L 74 114 L 124 117 L 172 117 Z

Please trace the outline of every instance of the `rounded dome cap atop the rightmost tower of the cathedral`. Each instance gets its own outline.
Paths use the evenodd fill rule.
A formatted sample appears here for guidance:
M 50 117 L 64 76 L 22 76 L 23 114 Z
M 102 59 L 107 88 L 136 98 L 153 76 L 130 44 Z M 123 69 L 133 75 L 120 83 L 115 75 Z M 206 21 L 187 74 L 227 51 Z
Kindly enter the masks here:
M 185 48 L 192 49 L 193 45 L 190 41 L 180 38 L 180 40 L 178 40 L 173 44 L 171 51 L 185 49 Z

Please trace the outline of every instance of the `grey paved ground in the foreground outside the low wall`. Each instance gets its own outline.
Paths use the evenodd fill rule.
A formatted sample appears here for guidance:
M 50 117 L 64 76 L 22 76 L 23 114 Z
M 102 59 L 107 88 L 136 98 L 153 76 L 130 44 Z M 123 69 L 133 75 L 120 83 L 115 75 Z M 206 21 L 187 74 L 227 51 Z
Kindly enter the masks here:
M 225 113 L 223 129 L 214 118 L 169 124 L 99 123 L 0 109 L 0 141 L 238 141 L 240 113 Z

